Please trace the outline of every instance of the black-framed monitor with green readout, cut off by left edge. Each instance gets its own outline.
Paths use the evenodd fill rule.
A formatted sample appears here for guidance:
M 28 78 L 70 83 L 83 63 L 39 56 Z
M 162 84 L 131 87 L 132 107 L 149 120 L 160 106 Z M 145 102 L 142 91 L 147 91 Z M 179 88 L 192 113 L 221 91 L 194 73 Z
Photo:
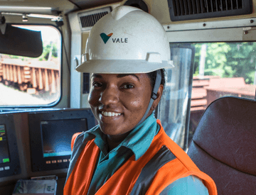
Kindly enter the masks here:
M 20 172 L 14 116 L 0 114 L 0 178 Z

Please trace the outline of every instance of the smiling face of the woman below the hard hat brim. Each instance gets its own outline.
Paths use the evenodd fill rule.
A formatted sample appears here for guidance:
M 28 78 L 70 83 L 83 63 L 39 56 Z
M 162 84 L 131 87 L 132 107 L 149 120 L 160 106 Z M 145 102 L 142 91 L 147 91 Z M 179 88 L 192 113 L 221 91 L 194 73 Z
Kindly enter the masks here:
M 102 133 L 132 130 L 146 112 L 151 90 L 146 74 L 92 74 L 88 101 Z

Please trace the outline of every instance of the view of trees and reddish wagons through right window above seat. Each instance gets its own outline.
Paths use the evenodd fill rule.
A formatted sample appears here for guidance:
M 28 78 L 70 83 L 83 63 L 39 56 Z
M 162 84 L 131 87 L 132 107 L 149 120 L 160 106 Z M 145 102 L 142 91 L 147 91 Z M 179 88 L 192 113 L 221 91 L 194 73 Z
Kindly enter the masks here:
M 223 96 L 255 99 L 256 43 L 186 43 L 196 49 L 189 140 L 206 107 Z M 182 44 L 181 44 L 182 45 Z

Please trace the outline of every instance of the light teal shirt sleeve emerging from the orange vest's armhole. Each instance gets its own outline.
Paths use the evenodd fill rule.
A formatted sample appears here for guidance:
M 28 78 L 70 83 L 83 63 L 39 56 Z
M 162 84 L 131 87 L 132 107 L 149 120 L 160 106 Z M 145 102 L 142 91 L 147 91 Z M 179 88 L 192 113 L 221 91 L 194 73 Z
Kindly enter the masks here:
M 176 180 L 166 187 L 160 195 L 208 195 L 208 189 L 203 184 L 201 179 L 190 175 Z

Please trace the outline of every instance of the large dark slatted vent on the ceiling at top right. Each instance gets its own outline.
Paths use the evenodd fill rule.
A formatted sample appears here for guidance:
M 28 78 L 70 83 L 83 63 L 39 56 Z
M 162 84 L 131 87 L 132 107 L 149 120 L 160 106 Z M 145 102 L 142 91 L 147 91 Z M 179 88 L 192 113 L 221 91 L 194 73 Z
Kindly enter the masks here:
M 252 0 L 168 0 L 171 21 L 252 13 Z

